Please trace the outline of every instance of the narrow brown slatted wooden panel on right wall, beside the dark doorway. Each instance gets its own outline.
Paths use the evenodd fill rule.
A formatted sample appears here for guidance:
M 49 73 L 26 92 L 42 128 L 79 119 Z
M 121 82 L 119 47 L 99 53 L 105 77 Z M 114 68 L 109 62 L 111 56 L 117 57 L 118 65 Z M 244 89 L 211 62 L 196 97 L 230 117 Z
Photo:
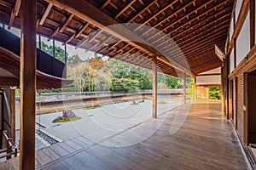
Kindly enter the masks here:
M 237 77 L 237 133 L 240 137 L 241 141 L 244 141 L 244 111 L 243 111 L 243 97 L 244 97 L 244 89 L 243 89 L 243 75 Z

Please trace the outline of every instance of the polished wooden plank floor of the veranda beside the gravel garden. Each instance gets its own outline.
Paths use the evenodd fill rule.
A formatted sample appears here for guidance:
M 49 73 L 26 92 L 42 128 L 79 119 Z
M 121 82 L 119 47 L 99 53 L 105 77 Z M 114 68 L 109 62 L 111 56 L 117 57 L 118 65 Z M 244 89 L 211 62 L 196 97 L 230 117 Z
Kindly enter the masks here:
M 183 108 L 180 109 L 183 111 Z M 143 169 L 248 169 L 241 153 L 239 141 L 231 123 L 223 117 L 220 104 L 191 105 L 189 116 L 177 133 L 170 135 L 170 128 L 177 115 L 170 111 L 157 120 L 145 122 L 140 130 L 132 128 L 94 144 L 83 136 L 69 139 L 38 151 L 38 169 L 89 169 L 89 170 L 143 170 Z M 132 132 L 137 138 L 153 130 L 161 119 L 161 127 L 140 143 L 126 147 L 108 147 L 102 144 L 122 144 Z M 125 123 L 125 122 L 124 122 Z M 131 120 L 130 122 L 131 123 Z M 125 133 L 127 136 L 125 136 Z M 114 140 L 113 140 L 114 139 Z M 131 139 L 132 140 L 132 139 Z M 113 144 L 114 142 L 114 144 Z M 116 145 L 119 146 L 119 145 Z M 0 163 L 14 167 L 15 161 Z M 11 164 L 11 165 L 10 165 Z M 12 169 L 12 168 L 11 168 Z

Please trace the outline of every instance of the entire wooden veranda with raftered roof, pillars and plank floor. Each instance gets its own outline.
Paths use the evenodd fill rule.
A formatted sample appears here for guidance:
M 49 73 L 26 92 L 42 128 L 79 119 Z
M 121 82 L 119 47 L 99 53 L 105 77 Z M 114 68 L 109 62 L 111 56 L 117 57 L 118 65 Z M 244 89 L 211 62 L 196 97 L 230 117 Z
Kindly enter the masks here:
M 248 123 L 254 117 L 256 99 L 249 98 L 247 84 L 256 68 L 255 0 L 0 0 L 0 22 L 21 31 L 18 71 L 15 77 L 0 77 L 0 86 L 20 87 L 20 157 L 3 166 L 12 167 L 19 159 L 20 169 L 69 169 L 73 162 L 77 168 L 89 169 L 247 169 L 238 141 L 246 147 L 256 143 L 254 118 Z M 66 149 L 56 144 L 38 150 L 35 159 L 37 34 L 53 43 L 60 41 L 152 70 L 152 122 L 158 121 L 157 71 L 183 77 L 185 106 L 185 77 L 220 67 L 224 114 L 219 104 L 192 105 L 188 120 L 175 135 L 166 133 L 171 114 L 152 137 L 126 149 L 84 146 L 84 139 L 73 139 L 62 143 Z M 4 66 L 7 72 L 11 70 L 0 63 Z M 251 87 L 253 83 L 252 78 Z M 231 118 L 239 140 L 223 116 Z M 52 152 L 53 147 L 59 153 Z M 49 152 L 55 157 L 47 155 Z M 246 154 L 256 167 L 255 156 L 250 151 Z

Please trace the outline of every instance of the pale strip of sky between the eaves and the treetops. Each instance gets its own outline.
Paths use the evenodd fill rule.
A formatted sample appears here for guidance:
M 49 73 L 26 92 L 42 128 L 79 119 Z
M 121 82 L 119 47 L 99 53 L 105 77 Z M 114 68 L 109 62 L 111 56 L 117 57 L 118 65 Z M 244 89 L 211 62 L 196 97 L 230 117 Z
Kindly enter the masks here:
M 3 27 L 3 24 L 0 24 L 0 26 Z M 6 28 L 7 31 L 10 31 L 10 32 L 14 33 L 16 36 L 20 37 L 20 30 L 19 29 L 11 27 L 11 29 L 8 30 L 7 26 L 5 28 Z M 38 39 L 39 38 L 37 36 L 37 41 L 38 41 Z M 41 36 L 41 41 L 44 41 L 47 45 L 52 45 L 52 40 L 48 41 L 47 37 L 42 37 Z M 55 41 L 55 46 L 56 47 L 61 47 L 61 48 L 64 49 L 64 45 L 62 45 L 62 42 Z M 85 51 L 82 48 L 75 48 L 74 46 L 71 46 L 71 45 L 68 45 L 68 44 L 67 44 L 67 54 L 69 56 L 73 56 L 73 54 L 79 54 L 79 58 L 82 59 L 82 60 L 91 59 L 95 56 L 94 52 Z M 101 54 L 97 54 L 97 55 L 102 56 Z M 103 56 L 102 59 L 107 60 L 108 56 Z

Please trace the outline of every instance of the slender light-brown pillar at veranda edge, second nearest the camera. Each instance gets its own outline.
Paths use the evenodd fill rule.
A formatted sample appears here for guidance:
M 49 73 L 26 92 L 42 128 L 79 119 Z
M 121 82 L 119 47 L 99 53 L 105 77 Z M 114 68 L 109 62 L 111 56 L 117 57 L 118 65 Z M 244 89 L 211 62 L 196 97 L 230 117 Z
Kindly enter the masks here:
M 153 57 L 152 62 L 152 102 L 153 102 L 153 111 L 152 116 L 154 119 L 157 118 L 157 64 L 156 56 Z

